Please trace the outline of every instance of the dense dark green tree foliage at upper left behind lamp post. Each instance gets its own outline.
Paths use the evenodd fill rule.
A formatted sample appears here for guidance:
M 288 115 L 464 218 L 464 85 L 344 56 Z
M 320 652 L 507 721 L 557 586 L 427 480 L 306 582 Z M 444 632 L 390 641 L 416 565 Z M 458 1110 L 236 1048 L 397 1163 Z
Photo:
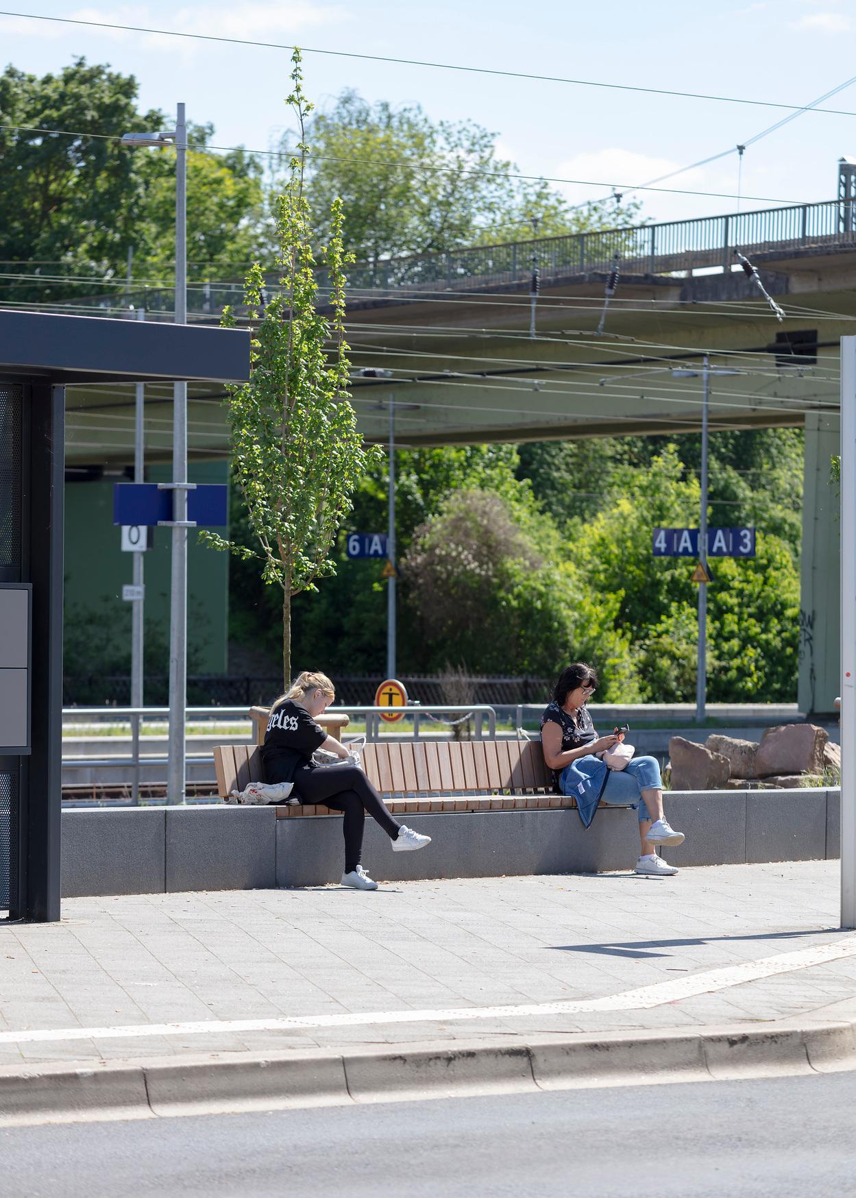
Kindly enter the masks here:
M 31 264 L 34 276 L 8 279 L 5 298 L 103 294 L 105 282 L 125 279 L 129 248 L 136 278 L 171 283 L 175 153 L 132 151 L 117 139 L 172 128 L 175 117 L 139 111 L 136 96 L 133 75 L 85 59 L 41 78 L 12 66 L 0 75 L 0 259 L 7 274 L 12 261 Z M 249 262 L 263 214 L 259 161 L 242 150 L 204 152 L 212 134 L 210 125 L 189 128 L 190 278 L 218 264 Z

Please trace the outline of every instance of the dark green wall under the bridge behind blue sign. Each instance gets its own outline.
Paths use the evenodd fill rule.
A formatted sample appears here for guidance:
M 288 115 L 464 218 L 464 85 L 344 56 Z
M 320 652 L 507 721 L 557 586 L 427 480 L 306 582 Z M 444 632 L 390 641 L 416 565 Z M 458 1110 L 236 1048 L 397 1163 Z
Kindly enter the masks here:
M 146 482 L 169 482 L 168 465 L 146 470 Z M 192 462 L 192 483 L 227 483 L 225 461 Z M 66 483 L 65 579 L 66 618 L 79 630 L 92 621 L 93 660 L 104 657 L 110 646 L 114 654 L 129 643 L 130 604 L 122 599 L 122 585 L 133 581 L 133 553 L 121 550 L 121 533 L 113 524 L 113 488 L 116 479 Z M 218 528 L 226 534 L 227 530 Z M 146 625 L 152 630 L 152 646 L 169 645 L 169 528 L 154 531 L 154 545 L 145 555 Z M 206 549 L 194 530 L 188 534 L 188 671 L 225 673 L 229 618 L 229 555 Z M 150 623 L 151 622 L 151 623 Z M 74 635 L 69 627 L 69 636 Z M 128 648 L 129 654 L 129 648 Z M 165 652 L 163 662 L 146 661 L 147 672 L 169 672 Z M 78 653 L 79 658 L 79 653 Z M 129 657 L 128 657 L 129 661 Z

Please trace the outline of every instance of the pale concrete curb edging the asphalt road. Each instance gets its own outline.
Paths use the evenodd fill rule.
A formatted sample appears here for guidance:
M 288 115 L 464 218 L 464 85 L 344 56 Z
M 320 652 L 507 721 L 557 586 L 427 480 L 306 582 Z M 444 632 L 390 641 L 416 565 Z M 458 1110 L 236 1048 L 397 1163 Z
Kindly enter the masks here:
M 740 1024 L 0 1067 L 0 1127 L 856 1069 L 856 1023 Z

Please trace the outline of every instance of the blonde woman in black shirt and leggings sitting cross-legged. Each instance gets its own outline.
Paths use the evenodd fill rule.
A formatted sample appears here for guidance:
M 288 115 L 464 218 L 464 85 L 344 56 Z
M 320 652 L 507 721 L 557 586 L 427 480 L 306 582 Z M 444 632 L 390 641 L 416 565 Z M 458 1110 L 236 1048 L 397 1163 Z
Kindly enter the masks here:
M 291 782 L 300 803 L 323 803 L 341 811 L 345 837 L 345 872 L 341 884 L 354 890 L 377 890 L 360 865 L 365 812 L 376 819 L 393 842 L 396 853 L 425 848 L 423 836 L 393 819 L 383 799 L 348 754 L 347 746 L 328 736 L 315 721 L 335 698 L 327 674 L 304 670 L 291 690 L 280 695 L 271 709 L 262 745 L 268 782 Z M 318 767 L 316 749 L 341 758 L 341 764 Z

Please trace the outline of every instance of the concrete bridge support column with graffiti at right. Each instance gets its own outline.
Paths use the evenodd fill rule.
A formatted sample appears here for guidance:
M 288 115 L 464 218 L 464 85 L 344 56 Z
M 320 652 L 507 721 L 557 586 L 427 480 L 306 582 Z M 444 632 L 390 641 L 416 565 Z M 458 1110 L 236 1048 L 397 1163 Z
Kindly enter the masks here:
M 828 714 L 840 695 L 840 527 L 838 486 L 831 458 L 840 452 L 838 415 L 806 416 L 800 680 L 797 703 L 806 715 Z

